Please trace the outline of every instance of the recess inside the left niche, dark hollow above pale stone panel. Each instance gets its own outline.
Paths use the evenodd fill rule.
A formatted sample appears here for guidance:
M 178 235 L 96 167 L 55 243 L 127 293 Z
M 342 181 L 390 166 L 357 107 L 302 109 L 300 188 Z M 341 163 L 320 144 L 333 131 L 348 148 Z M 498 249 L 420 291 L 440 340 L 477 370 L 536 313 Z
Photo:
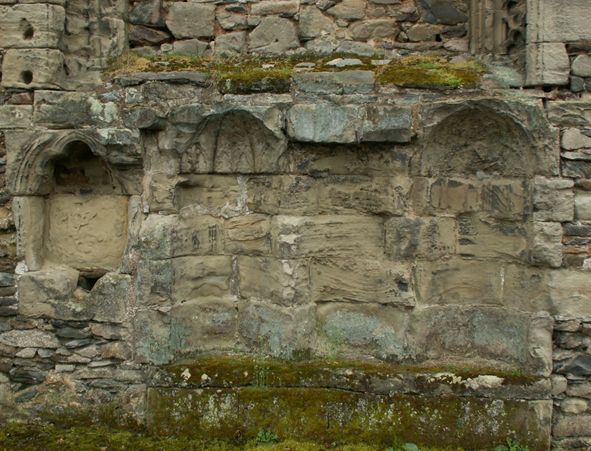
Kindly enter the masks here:
M 83 272 L 115 269 L 127 241 L 127 196 L 84 141 L 68 143 L 51 163 L 45 259 Z

